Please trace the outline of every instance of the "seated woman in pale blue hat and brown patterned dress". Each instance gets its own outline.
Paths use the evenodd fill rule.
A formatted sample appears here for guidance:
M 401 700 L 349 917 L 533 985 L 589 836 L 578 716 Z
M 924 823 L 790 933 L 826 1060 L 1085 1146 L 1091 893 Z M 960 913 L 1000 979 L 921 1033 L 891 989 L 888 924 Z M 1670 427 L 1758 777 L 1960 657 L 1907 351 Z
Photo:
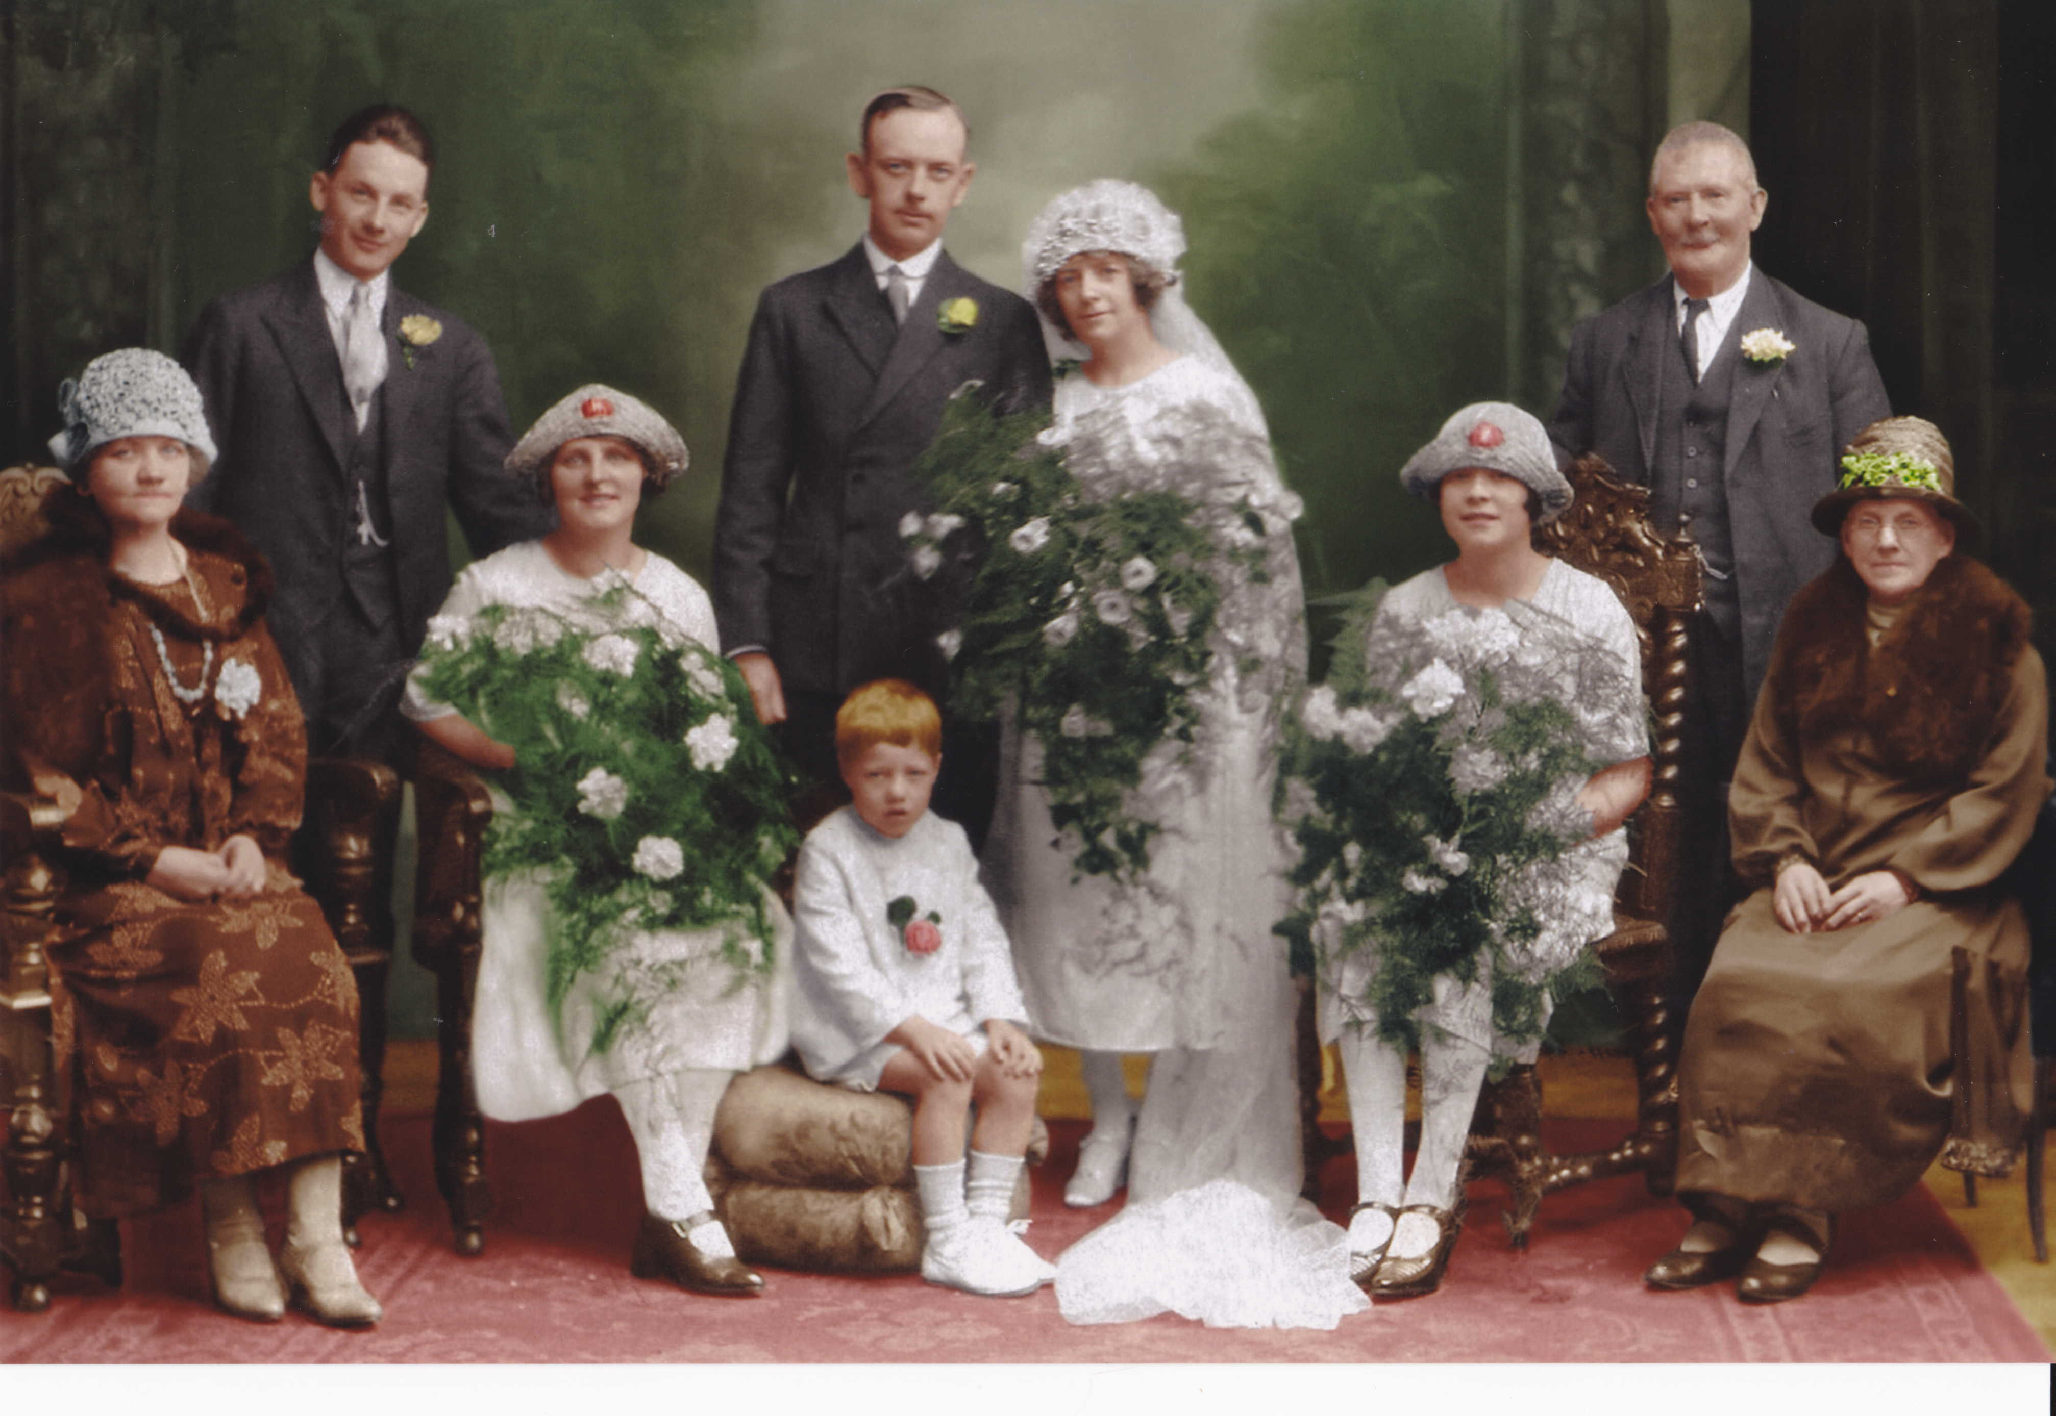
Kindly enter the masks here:
M 286 873 L 306 730 L 263 625 L 271 573 L 179 508 L 214 440 L 175 362 L 105 353 L 60 405 L 72 487 L 0 580 L 0 777 L 70 812 L 49 960 L 76 1202 L 138 1215 L 197 1182 L 224 1309 L 276 1321 L 290 1287 L 321 1321 L 374 1324 L 341 1233 L 358 993 Z M 261 1171 L 288 1188 L 276 1266 Z

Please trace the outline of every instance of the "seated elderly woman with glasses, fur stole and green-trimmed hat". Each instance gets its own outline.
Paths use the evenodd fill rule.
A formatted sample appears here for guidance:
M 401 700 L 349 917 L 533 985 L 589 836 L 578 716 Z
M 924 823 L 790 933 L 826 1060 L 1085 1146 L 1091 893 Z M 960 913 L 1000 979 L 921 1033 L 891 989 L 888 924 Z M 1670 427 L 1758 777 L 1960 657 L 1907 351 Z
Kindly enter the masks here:
M 1842 555 L 1785 612 L 1729 795 L 1727 919 L 1686 1026 L 1657 1289 L 1803 1295 L 1840 1210 L 1937 1153 L 2005 1173 L 2031 1097 L 2027 919 L 1998 878 L 2050 791 L 2048 686 L 2013 590 L 1961 555 L 1941 430 L 1887 417 L 1813 526 Z M 1953 1015 L 1959 1023 L 1953 1026 Z

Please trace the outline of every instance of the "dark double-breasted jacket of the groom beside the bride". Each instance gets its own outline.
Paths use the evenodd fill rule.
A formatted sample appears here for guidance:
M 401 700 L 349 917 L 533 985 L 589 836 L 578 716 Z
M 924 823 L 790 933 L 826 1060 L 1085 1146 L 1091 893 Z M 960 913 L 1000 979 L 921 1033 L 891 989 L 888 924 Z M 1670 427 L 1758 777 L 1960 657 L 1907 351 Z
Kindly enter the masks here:
M 977 323 L 938 327 L 970 296 Z M 942 688 L 948 592 L 907 573 L 898 522 L 927 508 L 911 464 L 966 380 L 1007 411 L 1047 407 L 1049 356 L 1026 300 L 944 253 L 894 327 L 864 247 L 763 292 L 722 469 L 713 610 L 722 645 L 763 645 L 790 688 L 880 676 Z

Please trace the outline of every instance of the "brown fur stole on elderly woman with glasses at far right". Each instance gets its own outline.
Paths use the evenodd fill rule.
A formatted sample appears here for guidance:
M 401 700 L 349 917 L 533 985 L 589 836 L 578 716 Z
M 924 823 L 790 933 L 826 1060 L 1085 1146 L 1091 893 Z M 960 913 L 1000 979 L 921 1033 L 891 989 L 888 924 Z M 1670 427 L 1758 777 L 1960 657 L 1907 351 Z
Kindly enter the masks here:
M 1774 674 L 1801 738 L 1857 723 L 1887 769 L 1961 775 L 1984 752 L 2033 619 L 2007 582 L 1943 557 L 1875 647 L 1869 592 L 1848 557 L 1793 596 Z

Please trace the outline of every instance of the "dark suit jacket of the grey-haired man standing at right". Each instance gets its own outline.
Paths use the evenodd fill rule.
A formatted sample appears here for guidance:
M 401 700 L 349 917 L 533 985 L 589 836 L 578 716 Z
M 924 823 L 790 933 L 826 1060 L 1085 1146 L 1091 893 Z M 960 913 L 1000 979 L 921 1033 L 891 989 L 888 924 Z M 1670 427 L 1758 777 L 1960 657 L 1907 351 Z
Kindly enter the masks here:
M 1785 604 L 1834 559 L 1834 541 L 1813 530 L 1807 516 L 1834 491 L 1848 440 L 1892 413 L 1861 323 L 1756 269 L 1723 353 L 1735 358 L 1741 337 L 1758 329 L 1780 329 L 1797 347 L 1770 368 L 1743 360 L 1727 409 L 1721 475 L 1750 703 L 1770 666 Z M 1649 483 L 1657 419 L 1678 417 L 1678 409 L 1657 407 L 1663 356 L 1676 339 L 1669 275 L 1571 331 L 1563 395 L 1548 430 L 1561 458 L 1598 452 L 1624 479 Z

